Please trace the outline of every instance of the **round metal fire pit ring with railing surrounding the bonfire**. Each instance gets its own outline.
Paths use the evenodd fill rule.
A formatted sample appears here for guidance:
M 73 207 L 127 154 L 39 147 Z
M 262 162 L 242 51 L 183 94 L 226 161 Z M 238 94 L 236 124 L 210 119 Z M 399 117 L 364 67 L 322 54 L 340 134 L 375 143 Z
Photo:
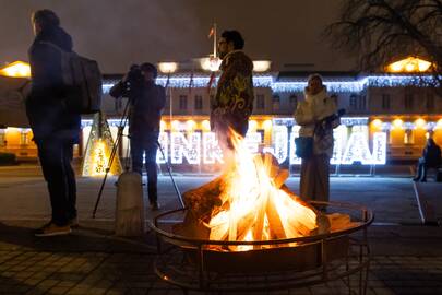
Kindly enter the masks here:
M 250 292 L 306 287 L 342 280 L 349 293 L 366 294 L 370 267 L 367 229 L 373 212 L 343 202 L 311 201 L 327 212 L 350 214 L 353 227 L 333 233 L 256 241 L 203 240 L 176 235 L 171 227 L 187 209 L 157 215 L 151 227 L 157 237 L 156 274 L 165 282 L 192 291 Z M 296 243 L 296 246 L 288 244 Z M 270 249 L 219 251 L 211 246 L 264 246 Z M 275 248 L 275 246 L 277 246 Z M 273 248 L 271 248 L 273 247 Z M 350 275 L 359 274 L 355 281 Z M 351 282 L 354 284 L 351 285 Z

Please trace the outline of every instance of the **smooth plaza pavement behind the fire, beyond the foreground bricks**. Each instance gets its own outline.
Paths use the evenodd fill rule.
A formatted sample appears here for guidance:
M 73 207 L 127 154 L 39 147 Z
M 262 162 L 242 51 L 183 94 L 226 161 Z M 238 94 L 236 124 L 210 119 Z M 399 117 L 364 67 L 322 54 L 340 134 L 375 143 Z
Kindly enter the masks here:
M 201 186 L 214 177 L 176 177 L 181 192 Z M 116 177 L 109 177 L 96 217 L 114 220 Z M 92 211 L 101 184 L 100 178 L 77 179 L 77 209 L 82 220 L 92 217 Z M 299 178 L 290 177 L 286 185 L 299 192 Z M 146 189 L 144 190 L 146 193 Z M 158 196 L 163 210 L 179 208 L 169 177 L 158 178 Z M 147 200 L 145 196 L 145 200 Z M 374 211 L 378 223 L 420 224 L 413 181 L 408 178 L 335 177 L 331 179 L 331 200 L 366 205 Z M 0 220 L 46 220 L 50 204 L 46 182 L 41 178 L 0 178 Z M 147 203 L 147 201 L 145 201 Z M 146 216 L 152 213 L 146 209 Z

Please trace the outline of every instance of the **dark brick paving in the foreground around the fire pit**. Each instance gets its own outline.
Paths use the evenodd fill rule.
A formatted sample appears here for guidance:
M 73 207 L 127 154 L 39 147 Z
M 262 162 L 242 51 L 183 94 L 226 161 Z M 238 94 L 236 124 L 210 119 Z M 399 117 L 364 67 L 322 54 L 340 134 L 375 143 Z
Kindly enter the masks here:
M 70 236 L 36 238 L 32 235 L 35 223 L 1 223 L 0 294 L 182 294 L 153 272 L 156 248 L 152 233 L 139 239 L 118 238 L 111 222 L 81 224 Z M 373 261 L 368 294 L 442 294 L 439 227 L 369 229 Z M 339 281 L 252 294 L 328 295 L 347 294 L 347 290 Z

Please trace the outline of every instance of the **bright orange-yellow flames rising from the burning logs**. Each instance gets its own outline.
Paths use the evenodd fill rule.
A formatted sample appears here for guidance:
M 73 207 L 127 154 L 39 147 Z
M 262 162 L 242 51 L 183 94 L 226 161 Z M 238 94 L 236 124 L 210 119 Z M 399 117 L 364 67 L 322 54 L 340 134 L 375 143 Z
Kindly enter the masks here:
M 231 129 L 229 132 L 232 163 L 219 196 L 223 204 L 208 223 L 210 238 L 270 240 L 307 236 L 316 229 L 315 211 L 282 188 L 288 172 L 279 169 L 271 154 L 265 154 L 264 158 L 252 155 L 243 138 Z M 253 246 L 235 248 L 250 249 Z

